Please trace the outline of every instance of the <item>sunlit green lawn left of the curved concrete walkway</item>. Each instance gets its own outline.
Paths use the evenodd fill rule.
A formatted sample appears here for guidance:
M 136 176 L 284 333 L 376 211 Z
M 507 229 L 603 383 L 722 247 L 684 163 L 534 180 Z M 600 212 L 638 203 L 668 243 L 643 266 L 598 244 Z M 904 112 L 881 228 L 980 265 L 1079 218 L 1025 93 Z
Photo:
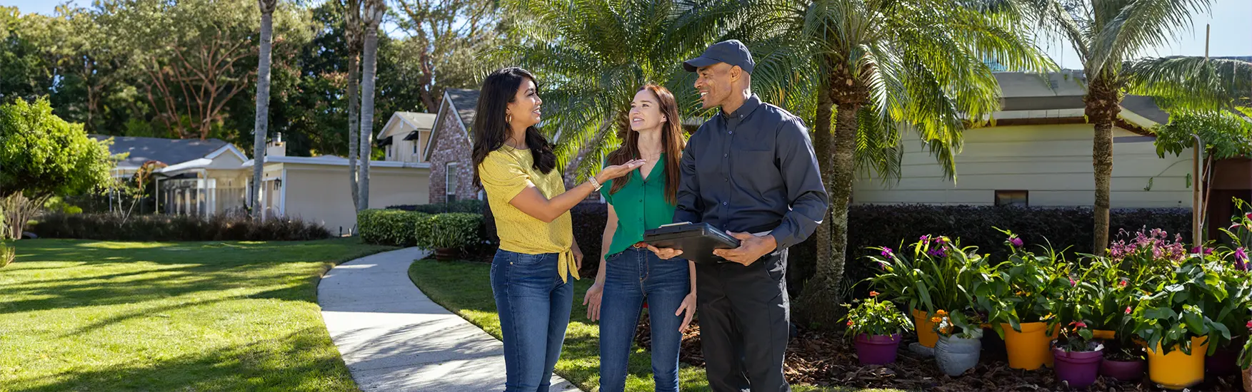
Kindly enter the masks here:
M 0 268 L 0 391 L 358 391 L 317 282 L 388 247 L 18 241 Z

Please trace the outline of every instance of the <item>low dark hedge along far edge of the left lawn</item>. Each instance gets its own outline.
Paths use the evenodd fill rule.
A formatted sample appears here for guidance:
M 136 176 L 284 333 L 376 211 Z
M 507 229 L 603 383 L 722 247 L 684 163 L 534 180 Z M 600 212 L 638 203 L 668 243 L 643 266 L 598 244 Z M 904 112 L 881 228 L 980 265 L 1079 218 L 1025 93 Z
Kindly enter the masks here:
M 44 238 L 101 241 L 307 241 L 331 237 L 322 225 L 299 218 L 185 215 L 46 213 L 30 231 Z

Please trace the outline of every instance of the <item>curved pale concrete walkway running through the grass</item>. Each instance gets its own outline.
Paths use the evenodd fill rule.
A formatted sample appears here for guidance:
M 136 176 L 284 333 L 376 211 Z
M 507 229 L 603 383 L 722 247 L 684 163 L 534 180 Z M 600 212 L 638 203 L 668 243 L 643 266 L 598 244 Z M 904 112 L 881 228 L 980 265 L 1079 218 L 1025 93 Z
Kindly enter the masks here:
M 505 346 L 408 278 L 418 248 L 357 258 L 322 278 L 322 318 L 362 391 L 505 390 Z M 578 391 L 552 376 L 552 391 Z

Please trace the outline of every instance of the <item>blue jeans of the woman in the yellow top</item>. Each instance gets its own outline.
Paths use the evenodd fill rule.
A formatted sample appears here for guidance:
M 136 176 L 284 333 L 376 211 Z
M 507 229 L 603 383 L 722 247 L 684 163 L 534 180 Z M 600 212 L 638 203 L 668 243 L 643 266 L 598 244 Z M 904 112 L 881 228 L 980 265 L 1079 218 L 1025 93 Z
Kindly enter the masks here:
M 573 280 L 561 282 L 557 253 L 497 251 L 491 291 L 505 338 L 505 392 L 546 392 L 561 357 Z

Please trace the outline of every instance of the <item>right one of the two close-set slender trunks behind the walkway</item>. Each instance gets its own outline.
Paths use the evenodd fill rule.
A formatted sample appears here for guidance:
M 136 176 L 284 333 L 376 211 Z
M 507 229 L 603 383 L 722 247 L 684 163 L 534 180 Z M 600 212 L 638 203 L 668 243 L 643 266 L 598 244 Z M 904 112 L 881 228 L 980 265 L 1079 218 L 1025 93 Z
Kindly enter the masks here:
M 384 0 L 364 0 L 366 14 L 366 51 L 363 75 L 361 77 L 361 172 L 357 181 L 361 187 L 357 210 L 369 208 L 369 155 L 373 152 L 374 134 L 374 71 L 378 64 L 378 24 L 387 12 Z

